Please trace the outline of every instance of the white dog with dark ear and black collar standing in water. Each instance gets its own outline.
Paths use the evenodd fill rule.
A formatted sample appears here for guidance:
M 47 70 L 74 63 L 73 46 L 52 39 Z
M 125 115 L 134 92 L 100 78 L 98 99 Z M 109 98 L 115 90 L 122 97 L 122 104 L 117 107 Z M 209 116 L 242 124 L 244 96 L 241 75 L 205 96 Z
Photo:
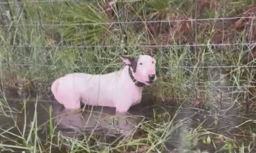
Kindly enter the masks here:
M 124 113 L 131 105 L 141 103 L 142 90 L 156 80 L 155 58 L 151 56 L 120 57 L 126 66 L 104 75 L 73 73 L 52 83 L 52 93 L 67 109 L 88 105 L 115 107 Z

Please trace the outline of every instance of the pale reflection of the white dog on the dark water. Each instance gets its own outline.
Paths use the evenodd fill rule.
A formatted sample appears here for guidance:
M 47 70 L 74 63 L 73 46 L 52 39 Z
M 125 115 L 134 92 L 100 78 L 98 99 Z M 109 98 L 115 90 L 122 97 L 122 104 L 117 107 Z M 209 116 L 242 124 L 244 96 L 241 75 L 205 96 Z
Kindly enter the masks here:
M 111 107 L 91 107 L 87 106 L 77 110 L 65 109 L 59 103 L 52 103 L 53 117 L 57 130 L 64 135 L 102 133 L 113 134 L 133 134 L 136 125 L 142 117 L 130 116 L 129 113 L 115 115 L 115 108 Z

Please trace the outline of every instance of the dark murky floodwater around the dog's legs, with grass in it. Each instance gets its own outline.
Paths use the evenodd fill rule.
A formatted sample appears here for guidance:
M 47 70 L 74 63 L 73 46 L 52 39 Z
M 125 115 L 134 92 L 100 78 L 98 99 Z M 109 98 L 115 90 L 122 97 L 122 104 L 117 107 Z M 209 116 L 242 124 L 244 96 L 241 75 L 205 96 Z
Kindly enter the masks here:
M 123 116 L 115 116 L 115 108 L 86 106 L 83 111 L 66 111 L 51 96 L 43 99 L 34 95 L 25 100 L 11 91 L 5 93 L 9 107 L 0 113 L 0 140 L 5 145 L 22 142 L 22 136 L 29 135 L 35 125 L 38 125 L 36 130 L 42 143 L 49 141 L 51 125 L 56 133 L 67 137 L 79 139 L 96 133 L 104 135 L 105 141 L 112 143 L 122 135 L 139 137 L 139 124 L 155 120 L 157 114 L 170 114 L 169 118 L 163 117 L 160 121 L 171 120 L 174 125 L 164 142 L 167 152 L 191 149 L 184 143 L 188 140 L 195 141 L 191 144 L 201 151 L 226 152 L 228 147 L 225 144 L 229 141 L 237 146 L 250 146 L 249 152 L 256 152 L 254 138 L 251 137 L 251 133 L 256 131 L 255 110 L 245 110 L 243 102 L 238 101 L 239 92 L 234 88 L 213 88 L 201 107 L 192 106 L 191 101 L 158 101 L 156 97 L 144 94 L 142 102 Z M 204 137 L 196 140 L 188 137 L 195 131 L 200 135 L 200 130 L 205 139 L 210 137 L 209 143 Z M 20 148 L 12 150 L 23 151 Z

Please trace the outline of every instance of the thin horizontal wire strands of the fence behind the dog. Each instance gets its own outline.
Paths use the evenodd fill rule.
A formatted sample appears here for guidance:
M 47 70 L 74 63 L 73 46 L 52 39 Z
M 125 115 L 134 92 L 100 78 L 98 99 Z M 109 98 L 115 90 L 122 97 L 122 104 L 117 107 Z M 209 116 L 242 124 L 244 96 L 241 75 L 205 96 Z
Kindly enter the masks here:
M 69 2 L 73 2 L 72 0 L 68 0 Z M 26 1 L 24 3 L 47 3 L 47 2 L 67 2 L 67 0 L 58 0 L 58 1 Z M 0 5 L 5 5 L 5 4 L 11 4 L 14 3 L 12 2 L 0 2 Z M 141 21 L 125 21 L 125 22 L 106 22 L 106 23 L 74 23 L 72 24 L 73 26 L 81 26 L 81 25 L 112 25 L 112 24 L 136 24 L 136 23 L 176 23 L 176 22 L 202 22 L 202 21 L 213 21 L 216 22 L 217 20 L 221 20 L 222 22 L 225 22 L 227 20 L 238 20 L 238 19 L 255 19 L 256 16 L 235 16 L 235 17 L 229 17 L 229 18 L 207 18 L 207 19 L 192 19 L 192 18 L 186 18 L 186 19 L 176 19 L 176 20 L 141 20 Z M 58 26 L 69 26 L 70 24 L 65 24 L 65 23 L 55 23 L 55 24 L 44 24 L 42 22 L 37 22 L 37 23 L 26 23 L 26 24 L 5 24 L 4 26 L 11 26 L 15 25 L 17 27 L 22 26 L 22 27 L 34 27 L 34 26 L 49 26 L 49 27 L 58 27 Z M 223 34 L 224 35 L 224 34 Z M 135 46 L 140 46 L 141 48 L 185 48 L 185 47 L 197 47 L 197 46 L 247 46 L 246 52 L 247 54 L 253 54 L 253 48 L 256 46 L 255 41 L 251 42 L 234 42 L 234 43 L 220 43 L 220 44 L 212 44 L 210 41 L 207 44 L 180 44 L 180 45 L 175 45 L 175 44 L 168 44 L 168 45 L 125 45 L 126 47 L 135 47 Z M 33 45 L 29 44 L 24 44 L 24 45 L 10 45 L 10 48 L 30 48 L 34 47 Z M 78 48 L 78 49 L 84 49 L 84 48 L 123 48 L 122 45 L 90 45 L 90 46 L 67 46 L 67 45 L 51 45 L 51 46 L 35 46 L 36 48 L 63 48 L 63 49 L 73 49 L 73 48 Z M 250 61 L 250 63 L 240 63 L 240 65 L 222 65 L 222 63 L 219 63 L 217 66 L 170 66 L 170 67 L 165 67 L 165 66 L 159 66 L 159 69 L 172 69 L 172 68 L 181 68 L 181 69 L 212 69 L 212 68 L 225 68 L 225 69 L 242 69 L 242 68 L 252 68 L 254 69 L 256 65 L 253 65 L 254 59 Z M 35 64 L 22 64 L 22 63 L 1 63 L 3 66 L 24 66 L 24 67 L 30 67 L 30 66 L 40 66 L 40 67 L 54 67 L 55 65 L 40 65 L 38 63 Z M 80 67 L 99 67 L 102 65 L 90 65 L 90 66 L 80 66 Z M 111 67 L 111 66 L 108 66 Z M 253 73 L 253 72 L 252 72 Z M 232 87 L 232 86 L 226 86 L 226 87 Z M 254 86 L 250 86 L 254 87 Z

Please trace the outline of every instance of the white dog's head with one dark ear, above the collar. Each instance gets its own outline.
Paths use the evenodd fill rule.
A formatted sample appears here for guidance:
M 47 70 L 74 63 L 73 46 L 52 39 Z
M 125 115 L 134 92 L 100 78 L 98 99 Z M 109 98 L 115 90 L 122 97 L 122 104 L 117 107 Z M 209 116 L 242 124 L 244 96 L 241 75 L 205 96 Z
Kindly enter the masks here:
M 129 65 L 132 69 L 132 73 L 135 79 L 139 82 L 146 84 L 147 86 L 155 82 L 155 58 L 147 55 L 134 57 L 120 57 L 126 65 Z

